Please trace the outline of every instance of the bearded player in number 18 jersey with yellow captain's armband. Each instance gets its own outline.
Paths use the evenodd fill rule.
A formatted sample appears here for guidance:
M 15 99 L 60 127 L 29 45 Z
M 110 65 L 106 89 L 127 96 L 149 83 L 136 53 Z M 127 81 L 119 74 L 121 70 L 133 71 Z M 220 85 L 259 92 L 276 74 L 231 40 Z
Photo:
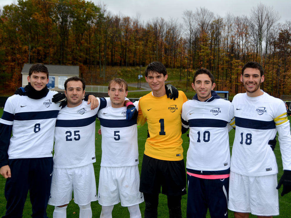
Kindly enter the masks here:
M 230 164 L 228 209 L 235 217 L 258 217 L 279 214 L 277 164 L 269 146 L 276 137 L 280 143 L 284 173 L 277 189 L 283 184 L 281 196 L 291 190 L 291 136 L 285 104 L 260 90 L 264 82 L 262 66 L 248 62 L 242 68 L 240 81 L 246 93 L 235 95 L 235 139 Z

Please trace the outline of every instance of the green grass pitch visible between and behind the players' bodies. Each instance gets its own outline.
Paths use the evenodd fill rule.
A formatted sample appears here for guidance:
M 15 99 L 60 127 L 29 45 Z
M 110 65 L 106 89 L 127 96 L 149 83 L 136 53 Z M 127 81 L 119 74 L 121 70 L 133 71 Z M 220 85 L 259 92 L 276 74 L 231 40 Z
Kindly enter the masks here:
M 0 116 L 3 113 L 3 109 L 0 109 Z M 288 117 L 290 120 L 290 117 Z M 98 120 L 96 120 L 96 130 L 100 128 L 100 123 Z M 230 131 L 229 137 L 230 137 L 230 150 L 232 149 L 233 144 L 233 138 L 234 138 L 234 130 Z M 184 155 L 184 161 L 186 164 L 186 153 L 189 146 L 188 137 L 186 136 L 187 133 L 182 135 L 183 138 L 183 155 Z M 147 137 L 147 125 L 141 127 L 138 129 L 138 149 L 139 149 L 139 170 L 141 170 L 141 162 L 144 152 L 144 144 Z M 96 163 L 94 163 L 94 169 L 95 169 L 95 175 L 96 175 L 96 185 L 98 187 L 98 179 L 99 179 L 99 170 L 100 170 L 100 162 L 101 162 L 101 136 L 98 135 L 96 131 Z M 277 164 L 278 164 L 278 180 L 280 179 L 283 171 L 282 171 L 282 160 L 281 160 L 281 153 L 279 149 L 279 143 L 277 142 L 277 146 L 275 148 L 275 155 L 277 158 Z M 186 175 L 185 175 L 186 176 Z M 6 199 L 4 197 L 4 186 L 5 186 L 5 179 L 0 176 L 0 216 L 3 216 L 5 214 L 5 207 L 6 207 Z M 281 193 L 282 187 L 279 190 L 279 193 Z M 182 217 L 186 217 L 186 206 L 187 206 L 187 195 L 182 196 Z M 280 204 L 280 215 L 278 217 L 290 217 L 290 206 L 291 206 L 291 193 L 281 197 L 279 194 L 279 204 Z M 93 217 L 99 217 L 101 213 L 101 206 L 98 204 L 98 202 L 91 202 Z M 52 217 L 53 214 L 53 206 L 48 205 L 47 208 L 47 214 L 48 217 Z M 140 204 L 141 214 L 143 217 L 145 204 Z M 29 194 L 26 199 L 26 203 L 24 206 L 23 211 L 23 217 L 31 217 L 31 203 L 29 201 Z M 73 202 L 73 200 L 70 202 L 67 208 L 67 217 L 79 217 L 79 207 L 77 204 Z M 120 203 L 114 206 L 112 217 L 129 217 L 128 209 L 127 207 L 121 207 Z M 160 194 L 159 197 L 159 207 L 158 207 L 158 217 L 169 217 L 168 214 L 168 206 L 167 206 L 167 198 L 165 195 Z M 209 214 L 207 217 L 210 217 Z M 229 211 L 229 217 L 233 217 L 233 212 Z M 253 215 L 250 215 L 250 217 L 256 217 Z

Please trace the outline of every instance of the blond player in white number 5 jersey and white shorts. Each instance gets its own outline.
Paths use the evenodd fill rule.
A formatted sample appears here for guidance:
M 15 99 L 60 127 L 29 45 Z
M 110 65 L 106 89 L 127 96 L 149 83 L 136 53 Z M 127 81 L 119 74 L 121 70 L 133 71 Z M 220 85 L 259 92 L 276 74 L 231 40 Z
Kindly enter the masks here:
M 139 192 L 137 119 L 126 120 L 127 82 L 109 82 L 111 106 L 98 112 L 102 132 L 102 156 L 97 199 L 101 218 L 112 217 L 114 204 L 128 207 L 131 218 L 141 218 Z M 138 102 L 136 102 L 138 103 Z

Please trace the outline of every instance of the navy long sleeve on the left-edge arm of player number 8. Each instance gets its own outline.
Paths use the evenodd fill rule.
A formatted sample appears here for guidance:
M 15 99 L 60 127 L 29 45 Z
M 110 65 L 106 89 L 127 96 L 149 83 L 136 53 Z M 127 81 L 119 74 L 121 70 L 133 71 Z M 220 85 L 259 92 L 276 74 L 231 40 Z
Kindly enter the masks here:
M 0 167 L 8 165 L 8 147 L 10 136 L 12 133 L 12 125 L 0 124 Z

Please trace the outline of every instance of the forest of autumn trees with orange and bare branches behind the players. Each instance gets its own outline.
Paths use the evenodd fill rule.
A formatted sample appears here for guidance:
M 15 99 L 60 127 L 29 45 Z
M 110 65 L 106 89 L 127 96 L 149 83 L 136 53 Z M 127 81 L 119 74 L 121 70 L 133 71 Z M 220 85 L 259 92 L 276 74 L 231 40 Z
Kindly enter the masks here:
M 220 17 L 196 8 L 181 14 L 183 23 L 158 17 L 143 22 L 138 14 L 111 14 L 105 5 L 83 0 L 19 0 L 0 11 L 0 90 L 18 87 L 29 62 L 79 65 L 92 83 L 106 80 L 108 65 L 157 60 L 186 69 L 188 60 L 190 72 L 206 67 L 218 89 L 238 93 L 242 65 L 252 60 L 265 69 L 264 90 L 290 93 L 291 24 L 279 24 L 278 13 L 263 4 L 250 11 Z

